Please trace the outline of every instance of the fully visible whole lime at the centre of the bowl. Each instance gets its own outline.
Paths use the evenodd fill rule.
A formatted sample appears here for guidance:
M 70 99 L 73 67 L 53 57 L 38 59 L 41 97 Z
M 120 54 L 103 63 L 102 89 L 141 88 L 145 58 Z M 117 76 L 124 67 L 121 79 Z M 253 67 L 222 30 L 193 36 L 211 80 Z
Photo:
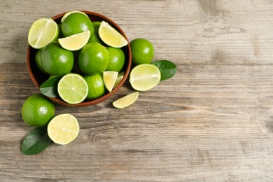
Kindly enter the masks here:
M 80 70 L 87 74 L 93 75 L 102 73 L 106 70 L 110 60 L 108 50 L 97 42 L 87 43 L 78 56 L 78 66 Z

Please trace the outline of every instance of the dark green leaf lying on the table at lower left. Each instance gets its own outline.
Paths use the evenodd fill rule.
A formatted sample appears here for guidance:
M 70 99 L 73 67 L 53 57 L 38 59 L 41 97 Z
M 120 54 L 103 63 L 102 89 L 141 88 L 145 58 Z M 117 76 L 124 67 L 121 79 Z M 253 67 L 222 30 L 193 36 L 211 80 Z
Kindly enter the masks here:
M 34 130 L 27 134 L 22 142 L 21 151 L 25 155 L 34 155 L 41 153 L 51 143 L 48 137 L 47 127 L 36 127 Z

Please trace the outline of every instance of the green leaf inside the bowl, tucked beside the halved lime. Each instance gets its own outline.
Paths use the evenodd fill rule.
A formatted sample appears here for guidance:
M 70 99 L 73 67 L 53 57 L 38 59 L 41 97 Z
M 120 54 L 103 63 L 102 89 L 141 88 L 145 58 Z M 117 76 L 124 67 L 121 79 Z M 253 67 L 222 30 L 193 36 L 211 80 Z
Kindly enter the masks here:
M 54 76 L 40 86 L 40 91 L 47 97 L 58 97 L 57 85 L 62 76 Z

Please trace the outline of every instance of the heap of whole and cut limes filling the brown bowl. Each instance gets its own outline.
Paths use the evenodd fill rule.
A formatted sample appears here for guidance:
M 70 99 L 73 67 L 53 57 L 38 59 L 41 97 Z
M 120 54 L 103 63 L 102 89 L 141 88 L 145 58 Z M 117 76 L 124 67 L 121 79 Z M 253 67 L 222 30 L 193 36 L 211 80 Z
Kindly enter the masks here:
M 35 62 L 41 73 L 62 76 L 57 94 L 69 104 L 102 97 L 123 77 L 121 48 L 127 39 L 108 22 L 92 22 L 81 11 L 64 14 L 59 25 L 51 18 L 36 20 L 28 42 L 37 49 Z

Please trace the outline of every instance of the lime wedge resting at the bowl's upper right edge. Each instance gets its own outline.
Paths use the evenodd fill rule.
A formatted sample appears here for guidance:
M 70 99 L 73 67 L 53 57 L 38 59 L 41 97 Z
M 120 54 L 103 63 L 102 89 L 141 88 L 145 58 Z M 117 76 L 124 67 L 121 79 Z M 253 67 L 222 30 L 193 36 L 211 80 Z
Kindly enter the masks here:
M 111 27 L 108 22 L 104 21 L 102 21 L 99 26 L 99 37 L 104 43 L 113 48 L 122 48 L 128 44 L 128 41 L 120 32 Z

